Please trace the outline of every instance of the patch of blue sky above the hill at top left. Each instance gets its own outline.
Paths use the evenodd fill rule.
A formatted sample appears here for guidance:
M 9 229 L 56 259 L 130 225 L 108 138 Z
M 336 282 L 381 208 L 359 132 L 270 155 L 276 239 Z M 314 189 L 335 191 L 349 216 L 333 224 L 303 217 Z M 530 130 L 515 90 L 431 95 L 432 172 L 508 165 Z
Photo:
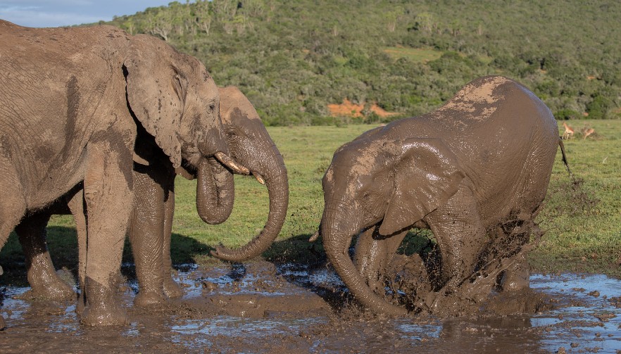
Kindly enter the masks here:
M 58 27 L 112 20 L 172 0 L 0 0 L 0 18 L 27 27 Z M 180 1 L 184 3 L 185 1 Z

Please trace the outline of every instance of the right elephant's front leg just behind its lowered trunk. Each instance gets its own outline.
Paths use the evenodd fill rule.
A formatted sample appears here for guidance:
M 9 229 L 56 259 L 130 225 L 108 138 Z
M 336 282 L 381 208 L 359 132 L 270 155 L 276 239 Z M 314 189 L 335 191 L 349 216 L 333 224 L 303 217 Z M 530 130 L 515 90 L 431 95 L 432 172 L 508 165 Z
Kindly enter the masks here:
M 406 234 L 407 231 L 382 237 L 377 233 L 377 227 L 371 227 L 358 236 L 353 256 L 354 264 L 370 288 L 379 291 L 380 295 L 384 294 L 382 277 Z

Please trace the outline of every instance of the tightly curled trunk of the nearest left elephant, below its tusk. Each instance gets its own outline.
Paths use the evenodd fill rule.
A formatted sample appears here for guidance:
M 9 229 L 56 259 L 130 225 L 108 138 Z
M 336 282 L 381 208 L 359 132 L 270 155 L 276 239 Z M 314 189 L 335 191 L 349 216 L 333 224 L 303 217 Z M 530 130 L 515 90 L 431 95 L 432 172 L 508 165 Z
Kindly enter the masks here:
M 201 220 L 216 225 L 225 222 L 233 210 L 233 174 L 215 160 L 203 158 L 197 169 L 196 211 Z

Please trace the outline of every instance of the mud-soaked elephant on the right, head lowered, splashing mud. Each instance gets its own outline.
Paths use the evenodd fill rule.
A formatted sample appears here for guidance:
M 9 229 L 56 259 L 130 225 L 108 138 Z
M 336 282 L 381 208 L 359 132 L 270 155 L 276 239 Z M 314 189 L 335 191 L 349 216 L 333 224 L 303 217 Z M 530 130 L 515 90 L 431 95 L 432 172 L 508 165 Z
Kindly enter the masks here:
M 365 132 L 334 153 L 322 180 L 320 235 L 330 262 L 360 303 L 401 315 L 382 298 L 381 275 L 408 229 L 427 228 L 441 251 L 444 289 L 456 289 L 475 271 L 488 234 L 513 228 L 518 249 L 527 242 L 519 227 L 538 213 L 559 142 L 544 103 L 497 76 L 470 82 L 432 113 Z M 528 286 L 518 258 L 506 270 L 507 290 Z

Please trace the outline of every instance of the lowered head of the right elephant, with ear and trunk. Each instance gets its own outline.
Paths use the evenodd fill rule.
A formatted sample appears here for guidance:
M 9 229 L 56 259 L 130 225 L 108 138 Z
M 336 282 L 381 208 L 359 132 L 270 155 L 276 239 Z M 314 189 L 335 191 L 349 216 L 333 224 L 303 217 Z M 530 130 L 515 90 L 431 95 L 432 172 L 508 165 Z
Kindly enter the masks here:
M 464 175 L 440 139 L 384 138 L 389 129 L 365 133 L 334 153 L 322 180 L 320 234 L 328 259 L 360 303 L 403 314 L 366 284 L 349 258 L 351 239 L 372 227 L 382 237 L 406 231 L 446 203 Z

